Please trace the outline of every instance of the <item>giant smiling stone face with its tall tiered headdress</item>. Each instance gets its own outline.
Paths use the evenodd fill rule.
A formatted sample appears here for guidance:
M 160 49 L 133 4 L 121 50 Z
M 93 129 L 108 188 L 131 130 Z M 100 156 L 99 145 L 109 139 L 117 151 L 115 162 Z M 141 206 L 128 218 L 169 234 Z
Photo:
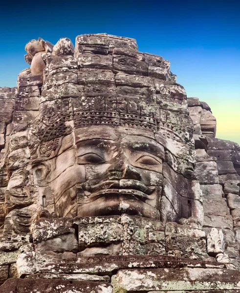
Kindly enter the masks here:
M 27 130 L 39 188 L 32 204 L 47 218 L 127 213 L 163 222 L 194 216 L 201 224 L 185 90 L 168 61 L 138 52 L 133 39 L 117 40 L 79 36 L 75 59 L 63 38 L 47 55 L 39 116 Z M 28 45 L 44 44 L 35 41 Z

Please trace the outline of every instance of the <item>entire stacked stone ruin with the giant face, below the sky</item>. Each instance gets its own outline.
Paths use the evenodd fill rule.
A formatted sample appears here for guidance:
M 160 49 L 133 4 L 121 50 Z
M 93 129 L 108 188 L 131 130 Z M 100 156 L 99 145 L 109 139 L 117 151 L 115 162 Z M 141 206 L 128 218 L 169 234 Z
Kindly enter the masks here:
M 0 292 L 240 292 L 240 147 L 134 39 L 26 44 L 0 88 Z

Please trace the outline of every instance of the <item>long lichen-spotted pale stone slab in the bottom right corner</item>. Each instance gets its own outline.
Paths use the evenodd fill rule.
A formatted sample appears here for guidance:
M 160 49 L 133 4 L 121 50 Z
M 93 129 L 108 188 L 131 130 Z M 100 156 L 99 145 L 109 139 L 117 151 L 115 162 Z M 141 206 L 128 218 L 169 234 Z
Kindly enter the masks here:
M 239 290 L 240 272 L 226 269 L 121 270 L 112 276 L 114 292 Z

